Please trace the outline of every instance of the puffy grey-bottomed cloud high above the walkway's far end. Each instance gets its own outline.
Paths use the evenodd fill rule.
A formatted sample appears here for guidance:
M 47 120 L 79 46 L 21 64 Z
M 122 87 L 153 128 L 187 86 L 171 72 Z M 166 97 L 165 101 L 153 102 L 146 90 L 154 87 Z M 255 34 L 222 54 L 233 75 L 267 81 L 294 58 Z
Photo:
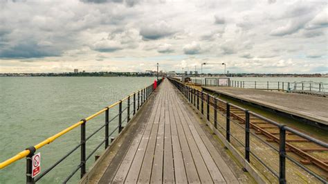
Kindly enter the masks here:
M 150 24 L 140 28 L 140 35 L 144 40 L 161 39 L 176 33 L 174 29 L 167 24 L 166 21 L 158 21 L 155 24 Z

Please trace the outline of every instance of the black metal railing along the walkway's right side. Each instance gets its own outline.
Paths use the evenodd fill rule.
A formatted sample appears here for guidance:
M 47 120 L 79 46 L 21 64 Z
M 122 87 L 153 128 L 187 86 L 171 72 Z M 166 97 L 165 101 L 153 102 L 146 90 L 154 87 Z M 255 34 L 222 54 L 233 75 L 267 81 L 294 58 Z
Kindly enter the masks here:
M 205 93 L 203 91 L 199 91 L 198 89 L 194 89 L 188 85 L 185 85 L 178 80 L 174 80 L 170 77 L 168 79 L 172 84 L 174 84 L 174 86 L 176 86 L 177 89 L 179 89 L 179 91 L 181 91 L 181 93 L 183 93 L 185 98 L 187 98 L 187 100 L 194 105 L 195 109 L 197 109 L 204 116 L 204 118 L 206 118 L 206 120 L 208 120 L 208 122 L 210 122 L 214 126 L 214 129 L 218 130 L 222 136 L 225 136 L 225 139 L 229 145 L 235 148 L 237 146 L 243 147 L 244 160 L 246 160 L 247 163 L 250 163 L 251 161 L 250 156 L 253 156 L 253 158 L 255 158 L 260 163 L 260 165 L 263 165 L 265 169 L 271 172 L 273 176 L 275 176 L 278 179 L 279 183 L 286 183 L 286 159 L 288 159 L 291 161 L 291 163 L 297 165 L 297 167 L 302 169 L 307 174 L 314 176 L 316 179 L 318 179 L 318 181 L 321 181 L 322 183 L 327 183 L 327 178 L 322 177 L 319 174 L 316 174 L 316 172 L 311 171 L 311 169 L 302 165 L 302 163 L 298 162 L 298 160 L 295 160 L 293 156 L 289 156 L 286 154 L 286 147 L 288 149 L 295 149 L 288 142 L 288 140 L 286 140 L 286 135 L 295 134 L 297 136 L 304 138 L 305 140 L 309 140 L 310 142 L 313 142 L 318 146 L 324 147 L 325 149 L 328 148 L 327 142 L 322 142 L 321 140 L 317 140 L 316 138 L 307 136 L 306 134 L 303 134 L 300 131 L 297 131 L 291 127 L 287 127 L 286 125 L 281 125 L 273 120 L 270 120 L 268 118 L 265 118 L 264 116 L 254 113 L 253 111 L 248 111 L 248 109 L 244 109 L 242 107 L 238 107 L 235 104 L 225 102 L 224 100 L 221 100 L 213 95 L 210 95 L 209 93 Z M 205 104 L 206 107 L 204 107 Z M 212 109 L 212 114 L 210 109 Z M 242 126 L 239 122 L 235 120 L 236 116 L 233 116 L 234 112 L 232 112 L 232 109 L 237 109 L 238 111 L 244 113 L 243 116 L 244 126 Z M 221 116 L 224 116 L 226 118 L 226 120 L 224 120 L 226 126 L 219 124 L 217 113 L 219 113 Z M 275 147 L 274 145 L 268 143 L 266 140 L 263 140 L 263 138 L 260 138 L 259 135 L 255 134 L 256 132 L 250 131 L 251 127 L 256 126 L 255 124 L 250 122 L 250 116 L 259 118 L 260 120 L 264 120 L 265 122 L 268 122 L 268 124 L 279 128 L 279 131 L 277 132 L 277 136 L 274 136 L 275 142 L 277 142 L 278 147 Z M 242 129 L 242 131 L 244 131 L 244 139 L 237 138 L 236 134 L 232 134 L 233 126 L 231 123 L 233 123 L 235 127 L 238 127 L 239 129 Z M 288 131 L 288 133 L 286 133 L 286 131 Z M 279 155 L 278 172 L 276 172 L 271 165 L 268 165 L 268 163 L 266 163 L 267 158 L 261 158 L 259 154 L 256 154 L 255 148 L 253 150 L 251 149 L 250 136 L 257 138 L 259 142 L 261 142 L 263 145 L 268 146 L 270 149 L 273 149 L 273 151 L 275 151 L 275 153 Z M 233 138 L 235 142 L 237 142 L 237 146 L 232 145 L 230 138 Z M 313 162 L 314 161 L 316 160 L 313 159 Z M 327 164 L 325 164 L 323 167 L 325 167 L 325 169 L 328 168 Z

